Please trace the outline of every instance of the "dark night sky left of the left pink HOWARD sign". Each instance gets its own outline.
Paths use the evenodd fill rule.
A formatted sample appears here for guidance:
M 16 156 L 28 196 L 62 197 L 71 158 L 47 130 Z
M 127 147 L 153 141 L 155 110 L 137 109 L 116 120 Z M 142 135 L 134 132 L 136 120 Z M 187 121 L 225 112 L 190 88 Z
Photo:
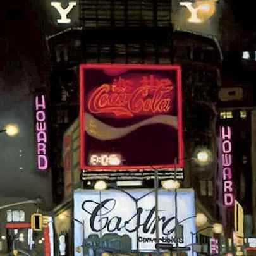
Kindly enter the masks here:
M 13 138 L 0 134 L 0 195 L 43 197 L 49 207 L 51 177 L 39 174 L 35 161 L 34 94 L 44 84 L 46 54 L 41 8 L 38 0 L 1 3 L 0 128 L 17 123 L 20 133 Z

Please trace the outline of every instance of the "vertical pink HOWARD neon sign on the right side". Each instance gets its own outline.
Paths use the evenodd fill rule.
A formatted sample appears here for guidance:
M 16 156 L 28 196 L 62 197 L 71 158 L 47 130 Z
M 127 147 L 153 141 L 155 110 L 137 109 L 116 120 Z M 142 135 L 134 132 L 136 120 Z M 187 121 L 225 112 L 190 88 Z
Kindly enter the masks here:
M 223 205 L 234 205 L 233 181 L 232 181 L 232 130 L 230 126 L 221 126 L 221 163 L 222 163 L 222 190 Z

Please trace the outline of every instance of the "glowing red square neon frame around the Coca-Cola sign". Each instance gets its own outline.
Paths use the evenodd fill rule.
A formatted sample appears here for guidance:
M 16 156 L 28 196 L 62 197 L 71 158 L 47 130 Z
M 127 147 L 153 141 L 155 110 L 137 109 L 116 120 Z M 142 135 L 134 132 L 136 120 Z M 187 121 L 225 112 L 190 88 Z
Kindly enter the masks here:
M 103 68 L 127 68 L 130 70 L 174 70 L 176 71 L 176 97 L 177 97 L 177 121 L 178 121 L 178 159 L 176 164 L 163 164 L 163 165 L 152 165 L 152 166 L 88 166 L 85 164 L 85 76 L 83 71 L 87 68 L 103 69 Z M 184 157 L 183 157 L 183 125 L 182 125 L 182 89 L 181 89 L 181 66 L 178 65 L 167 65 L 167 64 L 80 64 L 80 167 L 81 169 L 93 170 L 130 170 L 136 169 L 172 169 L 172 168 L 183 168 Z

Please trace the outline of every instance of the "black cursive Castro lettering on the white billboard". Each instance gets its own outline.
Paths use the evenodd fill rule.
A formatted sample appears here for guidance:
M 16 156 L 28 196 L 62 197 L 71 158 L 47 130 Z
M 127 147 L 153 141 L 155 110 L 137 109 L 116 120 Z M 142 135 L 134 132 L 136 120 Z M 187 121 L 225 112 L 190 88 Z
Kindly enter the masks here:
M 113 216 L 111 212 L 115 210 L 116 200 L 106 199 L 101 204 L 92 200 L 85 200 L 82 204 L 82 209 L 90 214 L 90 228 L 94 232 L 100 231 L 99 223 L 100 210 L 102 219 L 102 230 L 107 232 L 121 231 L 125 229 L 128 233 L 137 231 L 142 227 L 143 233 L 155 233 L 155 207 L 150 210 L 142 209 L 138 207 L 138 211 L 128 219 L 123 219 L 121 216 Z M 142 215 L 145 221 L 142 221 Z M 175 230 L 175 217 L 159 217 L 159 224 L 162 224 L 162 234 L 169 235 Z

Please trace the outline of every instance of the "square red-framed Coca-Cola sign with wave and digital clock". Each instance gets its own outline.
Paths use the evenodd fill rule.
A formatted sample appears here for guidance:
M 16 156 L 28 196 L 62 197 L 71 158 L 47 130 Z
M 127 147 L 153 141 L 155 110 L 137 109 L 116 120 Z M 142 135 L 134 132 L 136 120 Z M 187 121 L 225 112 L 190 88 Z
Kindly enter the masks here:
M 179 66 L 82 64 L 81 168 L 182 168 L 181 107 Z

